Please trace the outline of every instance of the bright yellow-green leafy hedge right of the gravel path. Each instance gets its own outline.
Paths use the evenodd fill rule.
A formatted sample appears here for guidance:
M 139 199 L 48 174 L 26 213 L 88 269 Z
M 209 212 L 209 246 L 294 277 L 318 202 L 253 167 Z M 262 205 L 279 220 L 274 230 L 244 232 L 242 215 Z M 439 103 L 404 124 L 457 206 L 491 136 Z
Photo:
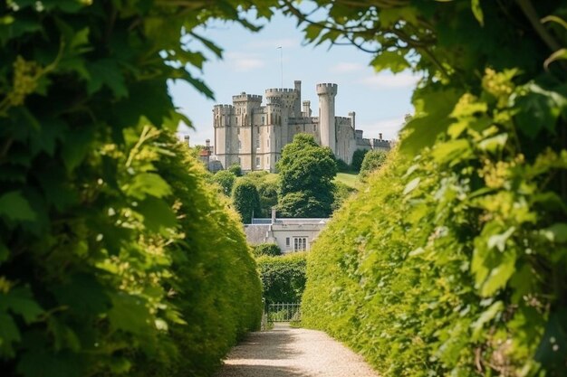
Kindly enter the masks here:
M 350 345 L 384 377 L 543 375 L 541 365 L 564 375 L 552 310 L 562 297 L 546 272 L 565 273 L 564 228 L 547 225 L 553 207 L 525 203 L 547 200 L 538 175 L 567 160 L 548 152 L 508 165 L 501 184 L 523 184 L 474 193 L 475 182 L 439 169 L 441 151 L 391 153 L 335 213 L 308 255 L 303 325 Z

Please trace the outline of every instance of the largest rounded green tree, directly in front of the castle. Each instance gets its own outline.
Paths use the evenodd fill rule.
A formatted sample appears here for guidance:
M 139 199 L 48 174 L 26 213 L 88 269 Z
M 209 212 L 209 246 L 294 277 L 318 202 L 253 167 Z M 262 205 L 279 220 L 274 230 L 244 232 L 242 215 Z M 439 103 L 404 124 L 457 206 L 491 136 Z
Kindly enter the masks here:
M 332 213 L 332 179 L 337 165 L 329 147 L 298 134 L 283 147 L 278 209 L 288 217 L 328 217 Z

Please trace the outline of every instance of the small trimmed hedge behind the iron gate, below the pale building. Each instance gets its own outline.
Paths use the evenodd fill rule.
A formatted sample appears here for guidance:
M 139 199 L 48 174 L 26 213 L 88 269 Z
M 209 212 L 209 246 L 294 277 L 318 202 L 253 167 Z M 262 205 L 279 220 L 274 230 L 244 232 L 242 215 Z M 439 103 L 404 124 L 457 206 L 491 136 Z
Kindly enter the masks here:
M 305 252 L 294 252 L 256 259 L 266 303 L 301 301 L 305 289 L 306 256 Z

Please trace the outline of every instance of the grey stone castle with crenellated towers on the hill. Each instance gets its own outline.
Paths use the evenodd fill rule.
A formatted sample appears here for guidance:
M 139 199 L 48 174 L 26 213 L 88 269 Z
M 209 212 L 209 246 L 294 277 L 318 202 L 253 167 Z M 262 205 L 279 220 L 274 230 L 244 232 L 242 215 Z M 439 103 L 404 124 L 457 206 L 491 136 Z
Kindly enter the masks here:
M 351 164 L 357 149 L 390 148 L 389 140 L 362 137 L 356 129 L 355 113 L 335 117 L 337 84 L 316 86 L 319 96 L 318 117 L 312 117 L 311 103 L 302 103 L 302 81 L 294 81 L 293 89 L 265 90 L 262 96 L 246 94 L 233 96 L 232 105 L 213 108 L 215 127 L 214 155 L 226 169 L 238 164 L 244 171 L 275 171 L 282 148 L 299 133 L 310 134 L 320 146 L 329 146 L 337 158 Z

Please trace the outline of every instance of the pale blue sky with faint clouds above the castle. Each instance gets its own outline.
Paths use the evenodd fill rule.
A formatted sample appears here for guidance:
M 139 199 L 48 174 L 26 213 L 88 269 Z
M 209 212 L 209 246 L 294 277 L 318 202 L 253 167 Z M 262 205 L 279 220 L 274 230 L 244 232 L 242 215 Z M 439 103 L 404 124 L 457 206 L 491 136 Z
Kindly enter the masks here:
M 372 56 L 352 46 L 304 45 L 303 33 L 291 18 L 276 14 L 259 33 L 237 24 L 214 23 L 199 33 L 223 49 L 223 60 L 212 55 L 202 72 L 194 75 L 205 80 L 215 92 L 215 100 L 205 98 L 187 83 L 169 86 L 174 102 L 193 122 L 194 129 L 179 127 L 190 136 L 191 145 L 214 140 L 212 109 L 215 104 L 232 104 L 232 96 L 245 91 L 264 96 L 264 90 L 282 85 L 293 88 L 302 81 L 302 100 L 311 100 L 313 114 L 318 111 L 315 85 L 339 85 L 335 115 L 346 117 L 356 112 L 356 127 L 364 137 L 396 138 L 403 117 L 413 112 L 410 97 L 417 79 L 409 73 L 376 73 L 369 62 Z M 197 46 L 197 45 L 196 45 Z M 282 50 L 277 49 L 279 46 Z M 280 52 L 283 52 L 281 59 Z M 264 102 L 265 103 L 265 102 Z

